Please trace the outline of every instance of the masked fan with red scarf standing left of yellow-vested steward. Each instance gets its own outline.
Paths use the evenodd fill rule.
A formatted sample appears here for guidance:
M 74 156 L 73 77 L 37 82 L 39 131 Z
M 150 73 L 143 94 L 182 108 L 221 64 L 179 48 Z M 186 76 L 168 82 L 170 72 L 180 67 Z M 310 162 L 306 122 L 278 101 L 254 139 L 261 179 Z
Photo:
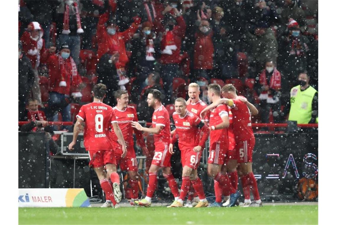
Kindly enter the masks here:
M 259 100 L 261 106 L 261 120 L 269 123 L 269 112 L 272 109 L 274 123 L 279 122 L 280 116 L 280 96 L 281 96 L 281 73 L 276 69 L 275 63 L 268 60 L 265 69 L 259 76 L 260 92 Z

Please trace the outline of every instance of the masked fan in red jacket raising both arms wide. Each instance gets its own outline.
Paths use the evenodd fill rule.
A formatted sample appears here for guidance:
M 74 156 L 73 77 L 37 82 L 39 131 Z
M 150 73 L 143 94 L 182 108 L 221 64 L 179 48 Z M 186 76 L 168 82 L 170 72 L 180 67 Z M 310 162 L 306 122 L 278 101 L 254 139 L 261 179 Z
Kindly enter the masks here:
M 131 39 L 140 24 L 141 19 L 135 17 L 134 23 L 131 24 L 129 29 L 119 32 L 116 22 L 109 18 L 108 12 L 100 16 L 97 24 L 96 36 L 99 40 L 97 51 L 98 59 L 106 53 L 110 55 L 113 55 L 116 52 L 119 53 L 119 59 L 115 64 L 117 74 L 119 75 L 118 85 L 121 86 L 121 89 L 125 89 L 124 85 L 129 82 L 129 79 L 125 76 L 125 66 L 129 62 L 129 58 L 125 51 L 125 43 Z

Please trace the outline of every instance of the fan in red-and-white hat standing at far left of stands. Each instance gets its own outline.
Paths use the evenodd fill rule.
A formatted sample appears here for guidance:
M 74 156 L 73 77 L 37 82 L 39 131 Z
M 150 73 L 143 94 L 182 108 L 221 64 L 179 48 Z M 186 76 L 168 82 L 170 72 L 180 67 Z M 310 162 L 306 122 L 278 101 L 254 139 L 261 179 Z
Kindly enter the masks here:
M 41 91 L 39 86 L 39 77 L 37 73 L 37 68 L 40 63 L 44 63 L 48 49 L 45 49 L 43 36 L 43 29 L 38 22 L 31 22 L 28 24 L 27 30 L 21 36 L 21 42 L 23 47 L 23 52 L 30 59 L 34 71 L 34 84 L 32 87 L 32 93 L 34 99 L 38 101 L 38 104 L 42 106 L 41 103 Z M 51 51 L 55 51 L 55 47 L 50 48 Z

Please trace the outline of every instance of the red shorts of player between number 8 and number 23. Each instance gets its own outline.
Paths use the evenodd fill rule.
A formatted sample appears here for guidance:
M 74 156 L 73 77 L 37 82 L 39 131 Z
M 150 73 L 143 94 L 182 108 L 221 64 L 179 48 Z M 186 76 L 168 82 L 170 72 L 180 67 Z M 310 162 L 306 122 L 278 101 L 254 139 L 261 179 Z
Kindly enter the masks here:
M 134 153 L 133 146 L 127 148 L 127 154 L 122 159 L 122 148 L 116 147 L 115 158 L 116 163 L 119 165 L 122 171 L 138 171 L 138 164 L 136 154 Z

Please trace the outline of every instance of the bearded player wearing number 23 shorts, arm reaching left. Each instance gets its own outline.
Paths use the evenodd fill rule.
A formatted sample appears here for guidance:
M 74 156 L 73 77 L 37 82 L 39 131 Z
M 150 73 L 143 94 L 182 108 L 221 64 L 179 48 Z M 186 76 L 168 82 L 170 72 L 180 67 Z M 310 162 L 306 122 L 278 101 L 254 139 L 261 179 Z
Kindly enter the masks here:
M 168 145 L 171 142 L 170 116 L 165 107 L 161 104 L 161 92 L 157 89 L 151 89 L 147 97 L 147 103 L 149 107 L 154 109 L 152 128 L 144 128 L 135 121 L 131 123 L 132 127 L 139 131 L 154 134 L 155 153 L 149 169 L 149 184 L 146 197 L 140 201 L 135 201 L 135 204 L 150 207 L 151 198 L 156 190 L 157 172 L 161 167 L 163 167 L 163 175 L 168 181 L 168 186 L 171 189 L 175 201 L 179 199 L 179 191 L 177 182 L 171 172 L 172 154 L 168 151 Z

